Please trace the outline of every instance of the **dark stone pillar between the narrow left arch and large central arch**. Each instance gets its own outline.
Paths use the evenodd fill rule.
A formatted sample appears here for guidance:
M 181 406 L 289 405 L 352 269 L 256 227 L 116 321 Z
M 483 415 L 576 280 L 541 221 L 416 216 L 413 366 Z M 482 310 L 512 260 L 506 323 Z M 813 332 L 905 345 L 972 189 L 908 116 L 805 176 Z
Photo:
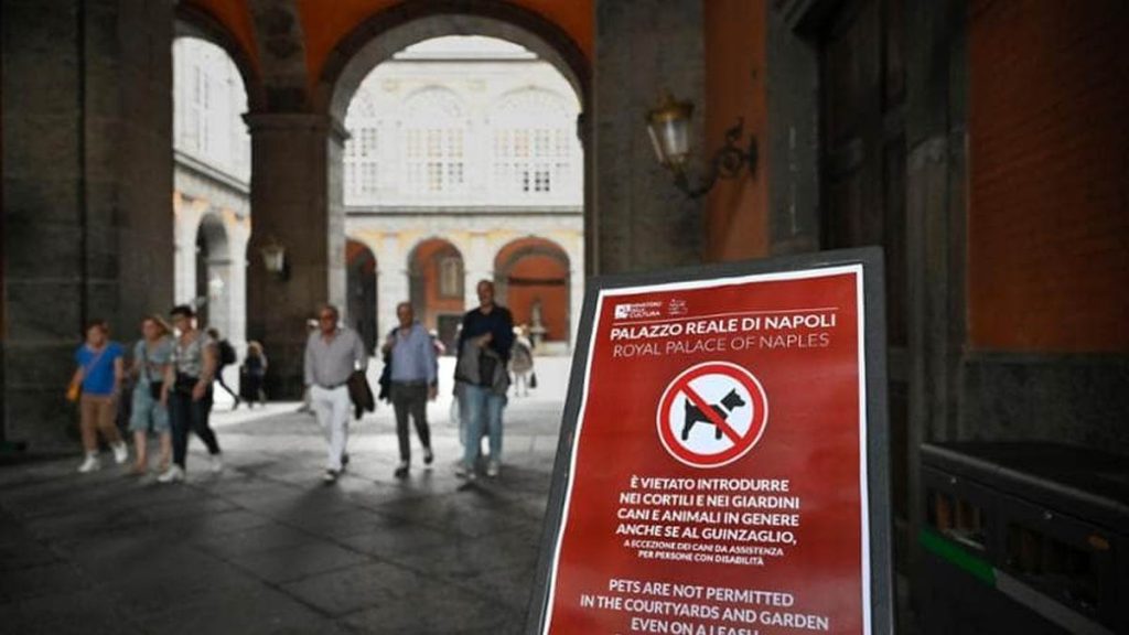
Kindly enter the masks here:
M 331 297 L 331 277 L 344 276 L 344 232 L 330 219 L 330 119 L 299 113 L 252 113 L 252 233 L 247 245 L 247 338 L 263 343 L 271 362 L 266 392 L 298 399 L 303 392 L 306 321 Z M 338 181 L 339 182 L 339 181 Z M 331 236 L 332 228 L 340 230 Z M 269 273 L 262 247 L 286 250 L 285 276 Z M 334 245 L 340 243 L 341 249 Z M 333 258 L 338 260 L 332 261 Z M 343 311 L 343 308 L 342 308 Z

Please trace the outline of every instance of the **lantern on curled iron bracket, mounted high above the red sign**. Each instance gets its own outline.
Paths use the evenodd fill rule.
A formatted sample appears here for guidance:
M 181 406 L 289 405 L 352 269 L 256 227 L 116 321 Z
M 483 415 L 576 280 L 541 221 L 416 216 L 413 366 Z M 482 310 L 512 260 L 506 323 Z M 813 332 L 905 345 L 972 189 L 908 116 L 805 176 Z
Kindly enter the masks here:
M 725 145 L 714 153 L 709 172 L 698 185 L 691 186 L 686 167 L 690 163 L 690 119 L 693 112 L 692 103 L 679 102 L 667 93 L 663 103 L 647 113 L 647 132 L 655 147 L 655 156 L 674 175 L 674 184 L 682 193 L 691 199 L 702 197 L 718 179 L 735 179 L 746 165 L 749 174 L 755 174 L 756 136 L 750 134 L 747 149 L 742 149 L 737 143 L 744 137 L 745 120 L 737 118 L 737 123 L 725 133 Z

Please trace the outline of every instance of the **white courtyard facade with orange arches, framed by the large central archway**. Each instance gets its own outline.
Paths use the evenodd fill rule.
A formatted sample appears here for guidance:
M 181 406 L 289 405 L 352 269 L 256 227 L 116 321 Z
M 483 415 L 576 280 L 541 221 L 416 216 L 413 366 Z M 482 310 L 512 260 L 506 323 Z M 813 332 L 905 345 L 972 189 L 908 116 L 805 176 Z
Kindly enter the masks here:
M 450 345 L 490 279 L 516 324 L 567 349 L 584 295 L 579 110 L 551 64 L 488 37 L 410 46 L 364 79 L 343 182 L 350 320 L 370 341 L 408 301 Z

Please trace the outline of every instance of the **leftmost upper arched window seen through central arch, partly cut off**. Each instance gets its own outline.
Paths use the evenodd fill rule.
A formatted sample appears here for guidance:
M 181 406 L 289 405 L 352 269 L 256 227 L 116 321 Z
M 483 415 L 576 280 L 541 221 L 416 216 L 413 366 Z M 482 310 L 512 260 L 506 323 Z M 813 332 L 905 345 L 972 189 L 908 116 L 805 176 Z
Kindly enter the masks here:
M 383 148 L 382 121 L 368 82 L 361 85 L 349 105 L 345 129 L 349 139 L 344 147 L 345 203 L 375 202 L 387 176 L 380 168 Z

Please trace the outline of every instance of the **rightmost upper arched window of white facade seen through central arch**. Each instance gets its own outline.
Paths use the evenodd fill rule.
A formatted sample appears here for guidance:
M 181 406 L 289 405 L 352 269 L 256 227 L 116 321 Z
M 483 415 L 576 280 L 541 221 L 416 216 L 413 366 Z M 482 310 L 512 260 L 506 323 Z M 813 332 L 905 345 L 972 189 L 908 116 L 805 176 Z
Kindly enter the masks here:
M 502 99 L 493 114 L 493 182 L 506 198 L 578 198 L 576 112 L 548 90 Z

